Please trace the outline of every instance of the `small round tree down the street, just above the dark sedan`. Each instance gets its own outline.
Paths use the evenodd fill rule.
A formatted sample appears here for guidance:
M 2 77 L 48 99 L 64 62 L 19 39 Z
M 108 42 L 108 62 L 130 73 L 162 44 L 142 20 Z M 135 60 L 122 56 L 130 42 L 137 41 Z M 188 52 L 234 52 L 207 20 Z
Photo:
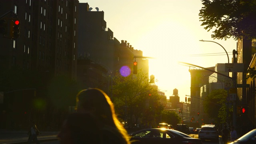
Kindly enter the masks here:
M 178 116 L 178 114 L 175 111 L 163 110 L 161 119 L 162 119 L 162 122 L 171 124 L 173 126 L 176 126 L 176 124 L 181 123 L 181 118 Z

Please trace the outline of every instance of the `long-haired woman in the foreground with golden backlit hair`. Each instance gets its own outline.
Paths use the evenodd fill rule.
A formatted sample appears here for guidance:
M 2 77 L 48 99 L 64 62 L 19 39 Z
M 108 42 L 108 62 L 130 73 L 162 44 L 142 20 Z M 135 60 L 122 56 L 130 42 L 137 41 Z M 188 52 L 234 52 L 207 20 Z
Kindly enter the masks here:
M 77 112 L 92 113 L 102 123 L 102 136 L 105 143 L 130 144 L 130 136 L 118 120 L 114 104 L 109 96 L 98 88 L 81 90 L 77 97 Z

